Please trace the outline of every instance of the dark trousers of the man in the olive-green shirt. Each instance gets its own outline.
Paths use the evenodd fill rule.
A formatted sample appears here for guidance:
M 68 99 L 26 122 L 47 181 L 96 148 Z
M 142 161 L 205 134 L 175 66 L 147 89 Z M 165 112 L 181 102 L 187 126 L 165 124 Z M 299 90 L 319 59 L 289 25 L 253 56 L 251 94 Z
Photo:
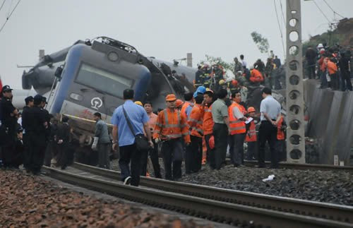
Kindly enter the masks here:
M 215 169 L 220 169 L 227 153 L 227 125 L 215 123 L 213 135 L 215 136 Z

